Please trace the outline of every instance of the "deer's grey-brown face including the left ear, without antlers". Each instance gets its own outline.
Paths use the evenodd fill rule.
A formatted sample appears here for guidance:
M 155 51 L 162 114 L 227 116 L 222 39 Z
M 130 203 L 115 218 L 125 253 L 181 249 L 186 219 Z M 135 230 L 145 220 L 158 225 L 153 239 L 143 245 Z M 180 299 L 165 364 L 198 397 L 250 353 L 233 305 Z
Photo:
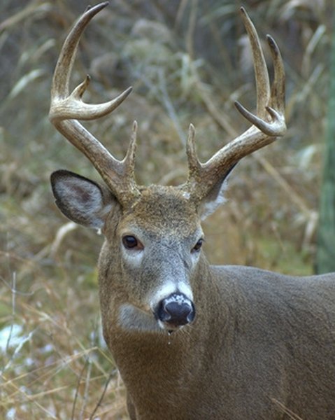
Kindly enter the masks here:
M 124 209 L 107 188 L 71 172 L 55 172 L 52 189 L 65 216 L 104 233 L 101 307 L 122 328 L 175 330 L 193 321 L 204 234 L 180 190 L 150 186 Z

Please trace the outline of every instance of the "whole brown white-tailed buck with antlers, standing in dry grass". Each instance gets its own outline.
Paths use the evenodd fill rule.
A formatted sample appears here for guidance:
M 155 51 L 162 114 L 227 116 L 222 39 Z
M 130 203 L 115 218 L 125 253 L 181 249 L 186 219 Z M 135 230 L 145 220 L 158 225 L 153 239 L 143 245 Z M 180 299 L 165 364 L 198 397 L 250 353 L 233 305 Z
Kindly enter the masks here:
M 50 120 L 85 153 L 104 185 L 68 171 L 52 174 L 56 203 L 72 221 L 100 229 L 99 293 L 104 338 L 127 387 L 131 419 L 335 419 L 335 276 L 296 278 L 253 267 L 211 266 L 201 218 L 221 203 L 224 180 L 245 155 L 285 134 L 280 52 L 269 75 L 255 27 L 241 16 L 255 62 L 252 126 L 199 162 L 194 127 L 188 178 L 180 186 L 139 186 L 136 123 L 124 160 L 80 125 L 113 111 L 82 102 L 89 78 L 69 93 L 80 35 L 107 2 L 87 9 L 60 52 Z M 171 335 L 171 337 L 169 336 Z

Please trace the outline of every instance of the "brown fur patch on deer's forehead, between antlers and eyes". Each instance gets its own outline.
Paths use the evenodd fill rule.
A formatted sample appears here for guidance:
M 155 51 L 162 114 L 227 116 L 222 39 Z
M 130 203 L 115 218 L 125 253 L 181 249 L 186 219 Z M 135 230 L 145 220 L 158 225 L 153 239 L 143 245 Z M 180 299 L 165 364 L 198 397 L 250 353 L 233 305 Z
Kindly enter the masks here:
M 135 223 L 151 233 L 188 236 L 199 226 L 194 204 L 177 188 L 150 186 L 131 207 L 124 223 Z

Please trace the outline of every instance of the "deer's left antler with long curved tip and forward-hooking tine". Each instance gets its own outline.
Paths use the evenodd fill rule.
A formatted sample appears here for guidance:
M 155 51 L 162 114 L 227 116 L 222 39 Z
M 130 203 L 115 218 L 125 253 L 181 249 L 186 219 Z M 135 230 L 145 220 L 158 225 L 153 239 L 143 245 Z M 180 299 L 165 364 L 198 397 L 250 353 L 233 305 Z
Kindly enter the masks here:
M 129 87 L 118 97 L 104 104 L 85 104 L 82 97 L 90 83 L 90 76 L 87 76 L 83 83 L 69 93 L 69 81 L 80 36 L 94 15 L 107 5 L 108 1 L 104 1 L 87 8 L 64 41 L 52 79 L 49 118 L 57 130 L 87 156 L 117 199 L 126 203 L 139 195 L 134 180 L 136 122 L 133 125 L 127 155 L 124 160 L 117 160 L 77 119 L 94 120 L 106 116 L 126 99 L 132 88 Z

